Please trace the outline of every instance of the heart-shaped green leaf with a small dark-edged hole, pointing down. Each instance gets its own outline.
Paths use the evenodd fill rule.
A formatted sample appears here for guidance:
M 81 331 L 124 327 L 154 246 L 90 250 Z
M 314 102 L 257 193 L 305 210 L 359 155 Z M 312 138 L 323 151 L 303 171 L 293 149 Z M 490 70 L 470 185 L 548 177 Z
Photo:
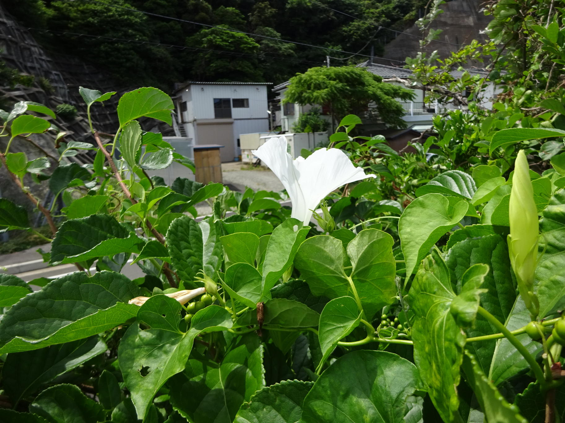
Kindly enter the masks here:
M 125 385 L 131 392 L 138 418 L 144 418 L 151 399 L 174 374 L 184 369 L 194 338 L 202 331 L 232 327 L 231 315 L 220 306 L 198 311 L 189 331 L 179 329 L 181 305 L 164 295 L 149 298 L 141 306 L 138 320 L 150 327 L 131 325 L 120 342 L 118 359 Z

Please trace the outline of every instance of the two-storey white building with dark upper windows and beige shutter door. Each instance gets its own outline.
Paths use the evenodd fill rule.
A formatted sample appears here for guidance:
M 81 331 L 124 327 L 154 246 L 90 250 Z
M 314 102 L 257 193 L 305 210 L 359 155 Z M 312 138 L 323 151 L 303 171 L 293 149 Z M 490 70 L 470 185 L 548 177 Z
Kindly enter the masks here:
M 221 161 L 241 155 L 240 134 L 269 130 L 268 82 L 194 82 L 174 93 L 181 136 L 195 146 L 220 144 Z

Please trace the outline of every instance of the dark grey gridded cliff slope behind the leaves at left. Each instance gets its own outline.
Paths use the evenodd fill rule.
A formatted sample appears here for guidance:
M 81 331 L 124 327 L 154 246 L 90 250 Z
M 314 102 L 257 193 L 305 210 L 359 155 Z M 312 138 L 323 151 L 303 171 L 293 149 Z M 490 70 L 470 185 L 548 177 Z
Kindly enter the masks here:
M 94 143 L 86 118 L 86 107 L 79 94 L 79 86 L 106 92 L 115 90 L 114 83 L 105 73 L 81 63 L 75 58 L 46 51 L 34 39 L 36 35 L 36 31 L 18 24 L 6 13 L 0 3 L 0 59 L 5 61 L 8 67 L 18 69 L 21 73 L 34 77 L 34 83 L 31 87 L 19 85 L 15 89 L 10 89 L 10 87 L 0 86 L 0 108 L 10 110 L 14 103 L 20 101 L 42 103 L 51 109 L 55 109 L 57 105 L 63 103 L 72 104 L 79 111 L 73 121 L 64 121 L 61 118 L 53 120 L 45 115 L 38 116 L 48 118 L 61 131 L 67 132 L 66 142 Z M 98 104 L 92 107 L 93 119 L 98 122 L 97 127 L 102 131 L 114 131 L 117 127 L 118 117 L 115 113 L 115 106 L 119 96 L 116 95 L 114 98 L 114 100 L 107 102 L 106 107 Z M 18 138 L 12 143 L 10 151 L 24 152 L 28 160 L 33 160 L 45 156 L 45 153 L 41 151 L 43 149 L 54 157 L 50 158 L 51 169 L 47 169 L 47 173 L 49 173 L 56 167 L 55 159 L 59 157 L 54 148 L 54 136 L 51 133 L 46 133 L 32 135 L 29 139 L 39 148 L 34 146 L 32 142 Z M 0 148 L 6 148 L 6 138 L 0 138 Z M 69 157 L 68 159 L 80 164 L 92 162 L 92 158 L 88 154 Z M 63 161 L 65 160 L 67 159 L 63 159 Z M 47 207 L 50 207 L 53 195 L 48 194 L 46 182 L 36 184 L 31 178 L 25 177 L 24 183 L 30 187 L 34 195 L 45 201 Z M 33 210 L 31 202 L 15 186 L 3 166 L 0 168 L 0 196 L 24 206 L 29 211 Z M 41 215 L 36 215 L 36 218 L 38 219 L 34 218 L 31 221 L 34 224 L 41 224 Z

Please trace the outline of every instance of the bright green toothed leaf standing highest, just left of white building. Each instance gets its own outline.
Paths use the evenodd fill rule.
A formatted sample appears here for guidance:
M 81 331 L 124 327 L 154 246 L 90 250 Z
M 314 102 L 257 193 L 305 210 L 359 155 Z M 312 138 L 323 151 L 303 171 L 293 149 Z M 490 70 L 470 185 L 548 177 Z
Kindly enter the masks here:
M 126 92 L 118 102 L 120 125 L 142 116 L 172 125 L 171 111 L 175 108 L 171 98 L 163 91 L 153 87 L 143 87 Z

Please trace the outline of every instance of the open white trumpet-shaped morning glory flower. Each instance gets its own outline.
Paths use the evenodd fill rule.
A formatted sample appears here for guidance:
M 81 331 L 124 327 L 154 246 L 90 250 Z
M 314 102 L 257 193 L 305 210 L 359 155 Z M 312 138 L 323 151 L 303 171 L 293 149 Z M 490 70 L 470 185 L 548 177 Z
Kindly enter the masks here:
M 338 148 L 321 148 L 306 159 L 297 157 L 292 160 L 287 146 L 284 136 L 273 137 L 251 152 L 269 166 L 286 188 L 292 201 L 290 217 L 305 225 L 310 224 L 312 210 L 332 191 L 346 183 L 376 178 L 366 175 L 362 168 L 356 168 Z

